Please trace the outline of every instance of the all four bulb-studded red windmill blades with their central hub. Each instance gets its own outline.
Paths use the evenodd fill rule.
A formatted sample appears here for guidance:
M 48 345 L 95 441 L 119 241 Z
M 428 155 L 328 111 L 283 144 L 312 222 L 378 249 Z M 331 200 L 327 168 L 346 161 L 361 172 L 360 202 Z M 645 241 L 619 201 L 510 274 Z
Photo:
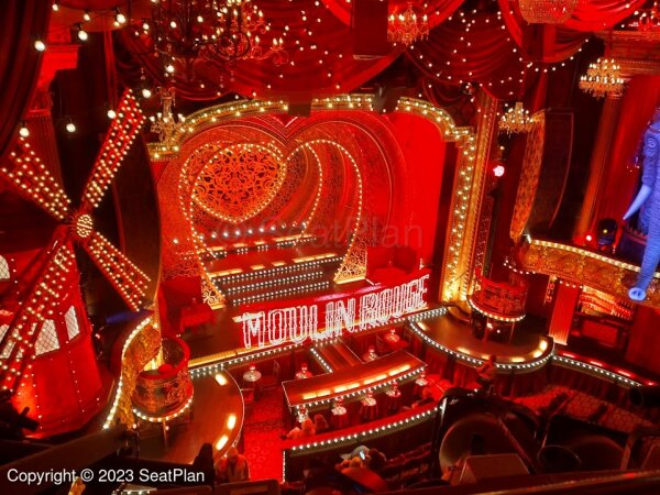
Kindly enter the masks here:
M 41 256 L 43 265 L 38 275 L 30 280 L 9 328 L 0 334 L 3 389 L 15 392 L 25 367 L 34 358 L 37 330 L 41 331 L 44 321 L 53 315 L 58 298 L 66 289 L 62 280 L 75 267 L 74 244 L 87 252 L 131 310 L 136 311 L 145 298 L 150 278 L 94 229 L 91 216 L 144 120 L 131 91 L 124 92 L 85 185 L 78 209 L 72 208 L 72 201 L 24 139 L 19 140 L 8 163 L 0 167 L 0 177 L 59 221 L 50 246 Z

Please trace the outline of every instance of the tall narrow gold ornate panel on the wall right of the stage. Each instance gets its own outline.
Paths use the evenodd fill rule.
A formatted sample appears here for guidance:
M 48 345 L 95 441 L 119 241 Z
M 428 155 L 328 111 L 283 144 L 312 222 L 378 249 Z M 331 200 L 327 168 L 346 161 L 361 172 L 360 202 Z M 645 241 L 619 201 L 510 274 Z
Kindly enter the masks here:
M 531 207 L 536 198 L 539 176 L 541 174 L 541 164 L 543 162 L 543 145 L 546 140 L 546 114 L 541 111 L 535 113 L 536 125 L 527 136 L 527 147 L 525 148 L 525 158 L 522 160 L 522 173 L 518 183 L 518 194 L 514 215 L 512 217 L 512 227 L 509 235 L 514 242 L 518 242 L 525 231 Z

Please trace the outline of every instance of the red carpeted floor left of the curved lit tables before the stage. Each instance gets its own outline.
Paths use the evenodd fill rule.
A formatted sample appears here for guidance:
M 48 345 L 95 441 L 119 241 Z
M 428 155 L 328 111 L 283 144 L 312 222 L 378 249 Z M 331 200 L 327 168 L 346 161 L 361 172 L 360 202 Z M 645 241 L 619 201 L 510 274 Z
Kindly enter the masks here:
M 252 480 L 282 481 L 282 389 L 266 391 L 243 425 L 244 455 Z

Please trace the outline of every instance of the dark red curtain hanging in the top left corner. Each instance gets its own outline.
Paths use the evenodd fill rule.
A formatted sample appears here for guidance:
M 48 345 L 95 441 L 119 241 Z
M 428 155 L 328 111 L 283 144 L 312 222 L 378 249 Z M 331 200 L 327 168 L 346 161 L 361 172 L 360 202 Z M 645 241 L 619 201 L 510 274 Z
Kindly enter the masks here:
M 51 2 L 0 2 L 0 163 L 7 157 L 38 77 L 42 55 L 36 37 L 46 38 Z

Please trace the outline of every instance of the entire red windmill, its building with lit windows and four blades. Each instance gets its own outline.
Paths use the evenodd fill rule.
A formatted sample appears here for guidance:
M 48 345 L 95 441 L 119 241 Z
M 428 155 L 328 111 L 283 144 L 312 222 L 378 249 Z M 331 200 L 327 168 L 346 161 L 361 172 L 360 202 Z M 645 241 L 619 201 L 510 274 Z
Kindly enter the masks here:
M 21 290 L 0 315 L 0 385 L 18 406 L 36 409 L 48 432 L 79 427 L 102 406 L 74 245 L 87 252 L 131 310 L 146 297 L 150 278 L 95 230 L 91 216 L 144 120 L 133 95 L 124 92 L 77 209 L 24 139 L 0 164 L 0 177 L 58 222 L 47 246 L 14 270 L 21 272 L 20 284 L 14 280 Z

